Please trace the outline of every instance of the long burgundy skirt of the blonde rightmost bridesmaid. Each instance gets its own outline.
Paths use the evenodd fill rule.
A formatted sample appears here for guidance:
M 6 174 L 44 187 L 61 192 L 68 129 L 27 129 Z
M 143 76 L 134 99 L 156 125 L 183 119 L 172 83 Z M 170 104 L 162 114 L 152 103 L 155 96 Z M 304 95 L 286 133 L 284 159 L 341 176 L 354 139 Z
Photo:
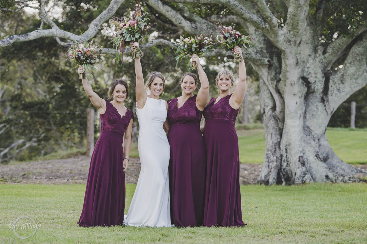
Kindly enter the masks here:
M 204 141 L 207 153 L 204 225 L 244 226 L 235 127 L 224 119 L 207 121 Z

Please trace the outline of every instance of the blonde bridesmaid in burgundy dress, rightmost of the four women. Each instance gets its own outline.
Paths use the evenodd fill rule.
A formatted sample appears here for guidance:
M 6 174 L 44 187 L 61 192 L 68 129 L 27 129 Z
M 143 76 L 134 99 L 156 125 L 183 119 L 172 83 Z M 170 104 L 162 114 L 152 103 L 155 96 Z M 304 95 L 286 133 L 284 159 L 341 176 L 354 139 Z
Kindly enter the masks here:
M 234 54 L 242 57 L 241 48 Z M 246 93 L 246 67 L 239 63 L 239 81 L 231 94 L 233 74 L 224 70 L 215 83 L 219 96 L 212 98 L 204 108 L 204 141 L 207 157 L 206 193 L 204 206 L 205 226 L 244 226 L 241 211 L 239 182 L 240 159 L 236 117 Z M 205 129 L 205 130 L 204 130 Z

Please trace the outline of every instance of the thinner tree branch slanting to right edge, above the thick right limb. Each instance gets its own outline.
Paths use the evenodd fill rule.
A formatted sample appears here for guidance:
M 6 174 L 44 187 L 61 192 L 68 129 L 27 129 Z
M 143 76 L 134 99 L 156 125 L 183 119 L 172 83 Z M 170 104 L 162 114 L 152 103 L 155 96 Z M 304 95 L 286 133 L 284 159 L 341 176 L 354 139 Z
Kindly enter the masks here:
M 362 32 L 367 30 L 366 25 L 362 25 L 355 34 L 350 34 L 348 36 L 338 37 L 335 41 L 331 42 L 326 48 L 322 50 L 322 54 L 324 56 L 324 72 L 328 72 L 331 69 L 331 66 L 341 58 L 349 50 L 349 45 L 355 40 L 357 36 L 359 36 Z

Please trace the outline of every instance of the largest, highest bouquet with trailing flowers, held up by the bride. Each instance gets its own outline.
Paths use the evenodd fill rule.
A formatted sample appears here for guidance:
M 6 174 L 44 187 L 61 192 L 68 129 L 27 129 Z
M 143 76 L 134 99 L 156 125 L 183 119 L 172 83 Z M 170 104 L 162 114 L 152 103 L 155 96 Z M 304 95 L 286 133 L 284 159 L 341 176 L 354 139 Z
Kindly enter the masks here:
M 148 24 L 148 21 L 150 20 L 148 17 L 146 17 L 148 12 L 143 12 L 143 10 L 144 9 L 141 7 L 141 3 L 135 2 L 134 10 L 131 12 L 131 19 L 126 17 L 113 17 L 110 19 L 110 23 L 116 27 L 116 34 L 110 39 L 110 42 L 113 43 L 113 48 L 118 50 L 116 53 L 116 59 L 121 59 L 121 65 L 123 63 L 122 58 L 126 44 L 132 41 L 138 45 L 138 40 L 144 39 L 143 34 L 153 25 Z M 143 55 L 143 52 L 139 46 L 137 46 L 132 50 L 131 58 L 136 59 L 142 57 Z

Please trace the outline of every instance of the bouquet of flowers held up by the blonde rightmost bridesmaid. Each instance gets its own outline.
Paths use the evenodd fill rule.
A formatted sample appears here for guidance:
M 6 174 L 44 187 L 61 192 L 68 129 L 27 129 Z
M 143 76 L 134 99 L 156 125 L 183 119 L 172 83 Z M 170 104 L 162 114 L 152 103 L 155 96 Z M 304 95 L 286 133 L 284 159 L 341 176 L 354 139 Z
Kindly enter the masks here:
M 252 48 L 254 46 L 253 40 L 254 38 L 251 36 L 241 36 L 241 33 L 236 32 L 233 30 L 231 26 L 223 26 L 218 25 L 217 30 L 219 31 L 219 34 L 217 36 L 217 41 L 219 44 L 221 44 L 220 48 L 225 48 L 226 51 L 235 48 L 236 46 L 244 47 L 244 48 Z M 220 39 L 218 40 L 218 37 Z M 239 54 L 235 55 L 235 62 L 241 62 L 243 59 Z

